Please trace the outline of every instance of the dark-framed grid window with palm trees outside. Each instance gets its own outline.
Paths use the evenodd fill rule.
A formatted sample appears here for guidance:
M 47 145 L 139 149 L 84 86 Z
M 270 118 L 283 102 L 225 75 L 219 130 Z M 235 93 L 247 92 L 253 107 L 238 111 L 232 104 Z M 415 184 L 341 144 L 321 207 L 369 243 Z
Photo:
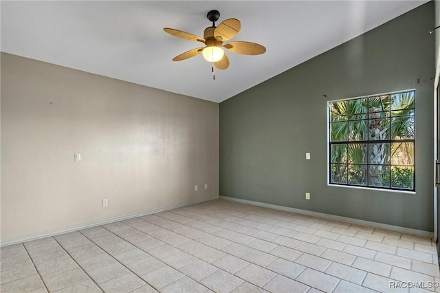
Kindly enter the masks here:
M 415 191 L 415 91 L 329 102 L 329 183 Z

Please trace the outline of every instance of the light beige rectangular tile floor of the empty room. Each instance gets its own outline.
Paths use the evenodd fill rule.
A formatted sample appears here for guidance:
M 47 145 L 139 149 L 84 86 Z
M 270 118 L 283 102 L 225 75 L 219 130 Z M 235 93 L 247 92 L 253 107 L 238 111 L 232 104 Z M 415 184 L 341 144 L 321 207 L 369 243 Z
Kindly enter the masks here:
M 1 292 L 412 293 L 439 282 L 429 238 L 224 200 L 0 250 Z

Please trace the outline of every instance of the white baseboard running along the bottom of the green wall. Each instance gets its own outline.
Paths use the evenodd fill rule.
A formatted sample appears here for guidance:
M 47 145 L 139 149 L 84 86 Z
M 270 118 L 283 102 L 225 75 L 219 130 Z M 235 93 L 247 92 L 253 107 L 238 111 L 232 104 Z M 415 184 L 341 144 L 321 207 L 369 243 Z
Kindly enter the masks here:
M 263 208 L 272 208 L 274 210 L 284 210 L 286 212 L 297 213 L 297 214 L 307 215 L 307 216 L 312 216 L 312 217 L 321 217 L 321 218 L 332 219 L 332 220 L 336 220 L 336 221 L 346 221 L 351 224 L 371 226 L 371 227 L 375 227 L 375 228 L 380 228 L 380 229 L 384 229 L 384 230 L 391 230 L 391 231 L 396 231 L 396 232 L 401 232 L 401 233 L 406 233 L 406 234 L 411 234 L 411 235 L 431 237 L 431 238 L 434 237 L 434 232 L 405 228 L 405 227 L 401 227 L 401 226 L 382 224 L 382 223 L 377 223 L 374 221 L 364 221 L 361 219 L 353 219 L 353 218 L 349 218 L 349 217 L 341 217 L 341 216 L 329 215 L 329 214 L 325 214 L 325 213 L 312 212 L 311 210 L 301 210 L 299 208 L 289 208 L 287 206 L 277 206 L 276 204 L 265 204 L 263 202 L 254 202 L 254 201 L 248 200 L 248 199 L 239 199 L 239 198 L 235 198 L 235 197 L 227 197 L 227 196 L 222 196 L 222 195 L 220 195 L 219 198 L 229 200 L 231 202 L 240 202 L 241 204 L 251 204 L 252 206 L 261 206 Z

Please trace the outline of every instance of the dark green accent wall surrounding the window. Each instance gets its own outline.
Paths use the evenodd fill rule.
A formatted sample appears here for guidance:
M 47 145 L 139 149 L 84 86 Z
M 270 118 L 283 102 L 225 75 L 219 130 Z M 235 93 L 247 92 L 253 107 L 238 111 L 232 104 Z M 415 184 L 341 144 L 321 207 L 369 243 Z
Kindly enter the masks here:
M 431 1 L 221 102 L 219 194 L 432 232 L 433 27 Z M 328 186 L 327 101 L 404 89 L 416 193 Z

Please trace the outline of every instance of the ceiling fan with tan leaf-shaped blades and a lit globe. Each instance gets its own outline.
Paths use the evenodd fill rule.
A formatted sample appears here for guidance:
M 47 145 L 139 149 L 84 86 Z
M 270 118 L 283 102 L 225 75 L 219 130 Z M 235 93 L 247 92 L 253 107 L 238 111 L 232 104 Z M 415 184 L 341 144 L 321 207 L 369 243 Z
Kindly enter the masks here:
M 168 34 L 172 34 L 173 36 L 205 44 L 205 47 L 198 47 L 175 56 L 173 61 L 182 61 L 202 53 L 203 58 L 205 58 L 206 61 L 214 63 L 214 66 L 218 69 L 226 69 L 229 67 L 229 58 L 223 49 L 244 55 L 259 55 L 266 52 L 266 48 L 257 43 L 232 41 L 223 44 L 224 41 L 232 39 L 240 32 L 240 21 L 238 19 L 226 19 L 216 27 L 215 22 L 219 20 L 220 12 L 217 10 L 211 10 L 206 17 L 209 21 L 212 21 L 212 26 L 205 29 L 203 32 L 203 38 L 196 36 L 195 34 L 182 32 L 181 30 L 164 28 L 165 32 L 168 32 Z M 214 70 L 214 66 L 212 67 L 212 70 Z

